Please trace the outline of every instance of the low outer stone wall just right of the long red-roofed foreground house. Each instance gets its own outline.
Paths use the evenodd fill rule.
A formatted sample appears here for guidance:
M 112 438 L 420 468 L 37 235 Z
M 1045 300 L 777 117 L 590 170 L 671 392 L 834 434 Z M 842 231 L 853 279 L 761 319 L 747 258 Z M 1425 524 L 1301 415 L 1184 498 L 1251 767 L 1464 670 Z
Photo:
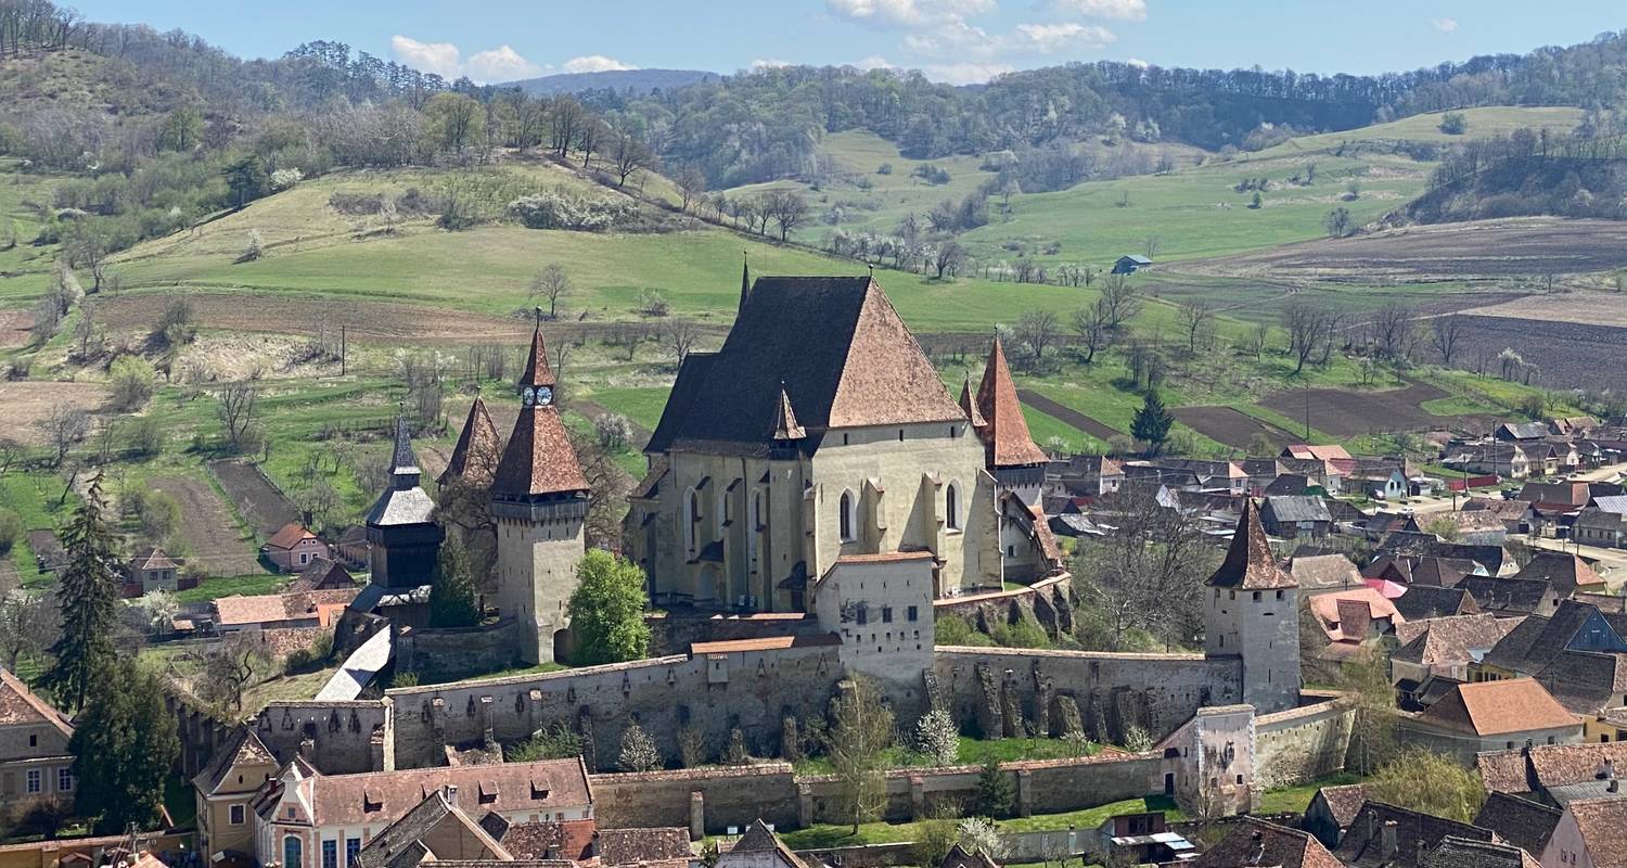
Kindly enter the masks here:
M 789 762 L 594 775 L 594 816 L 615 829 L 682 826 L 690 834 L 722 834 L 763 819 L 797 826 L 797 785 Z

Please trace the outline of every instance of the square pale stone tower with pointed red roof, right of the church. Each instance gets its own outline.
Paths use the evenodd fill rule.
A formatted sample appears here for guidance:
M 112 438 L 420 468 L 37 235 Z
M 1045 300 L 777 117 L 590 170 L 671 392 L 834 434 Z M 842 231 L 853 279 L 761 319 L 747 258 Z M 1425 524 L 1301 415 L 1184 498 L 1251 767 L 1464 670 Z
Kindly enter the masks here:
M 1300 700 L 1300 586 L 1277 565 L 1253 500 L 1243 500 L 1232 547 L 1204 585 L 1204 655 L 1241 661 L 1241 699 L 1256 713 L 1293 708 Z

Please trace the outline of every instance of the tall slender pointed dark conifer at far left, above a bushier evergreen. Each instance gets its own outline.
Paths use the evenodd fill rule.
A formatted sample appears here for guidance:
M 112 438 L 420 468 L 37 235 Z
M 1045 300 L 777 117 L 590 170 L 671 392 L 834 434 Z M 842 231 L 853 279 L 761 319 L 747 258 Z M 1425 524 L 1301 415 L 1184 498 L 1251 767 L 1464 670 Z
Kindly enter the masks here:
M 114 575 L 114 537 L 106 510 L 98 474 L 85 492 L 78 515 L 62 534 L 62 547 L 68 552 L 57 591 L 62 637 L 50 647 L 55 663 L 44 684 L 67 708 L 83 708 L 96 673 L 109 669 L 114 661 L 119 578 Z

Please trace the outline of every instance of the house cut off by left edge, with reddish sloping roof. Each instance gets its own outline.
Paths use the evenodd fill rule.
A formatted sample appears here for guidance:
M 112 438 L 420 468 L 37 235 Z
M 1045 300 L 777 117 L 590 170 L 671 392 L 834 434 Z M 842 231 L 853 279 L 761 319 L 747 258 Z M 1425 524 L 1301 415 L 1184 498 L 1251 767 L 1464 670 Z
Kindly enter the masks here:
M 73 801 L 70 738 L 73 726 L 62 712 L 0 669 L 0 809 L 44 798 Z

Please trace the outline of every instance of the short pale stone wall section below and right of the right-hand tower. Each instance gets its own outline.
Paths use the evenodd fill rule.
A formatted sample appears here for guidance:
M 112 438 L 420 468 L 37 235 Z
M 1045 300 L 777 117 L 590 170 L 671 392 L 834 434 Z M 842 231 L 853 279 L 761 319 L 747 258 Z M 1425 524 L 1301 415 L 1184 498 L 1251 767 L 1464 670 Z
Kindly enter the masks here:
M 1344 770 L 1355 708 L 1334 692 L 1306 692 L 1310 705 L 1254 718 L 1256 780 L 1293 787 Z

